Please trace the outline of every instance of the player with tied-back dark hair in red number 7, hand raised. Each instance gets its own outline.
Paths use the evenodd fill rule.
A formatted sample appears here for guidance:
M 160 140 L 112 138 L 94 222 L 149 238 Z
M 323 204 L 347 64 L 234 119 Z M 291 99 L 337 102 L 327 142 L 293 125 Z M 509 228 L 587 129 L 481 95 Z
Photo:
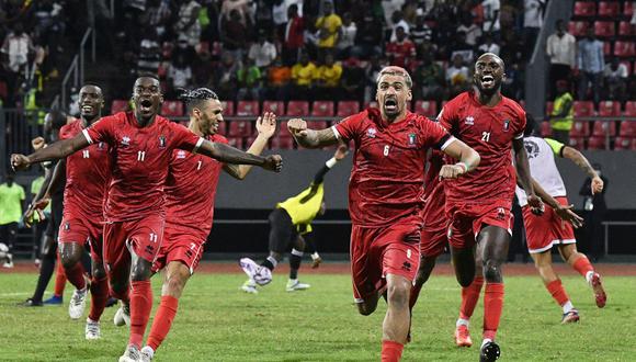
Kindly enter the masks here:
M 207 88 L 198 88 L 184 90 L 181 98 L 190 115 L 190 131 L 209 142 L 227 144 L 227 139 L 217 134 L 218 125 L 224 120 L 223 106 L 216 93 Z M 255 124 L 258 136 L 247 152 L 258 156 L 276 131 L 276 116 L 265 112 Z M 166 269 L 166 272 L 161 303 L 155 314 L 147 346 L 141 349 L 143 361 L 152 360 L 155 351 L 168 336 L 185 283 L 198 265 L 212 228 L 216 185 L 222 169 L 243 180 L 251 165 L 222 163 L 181 149 L 172 152 L 166 183 L 163 244 L 152 264 L 152 272 L 161 269 Z

